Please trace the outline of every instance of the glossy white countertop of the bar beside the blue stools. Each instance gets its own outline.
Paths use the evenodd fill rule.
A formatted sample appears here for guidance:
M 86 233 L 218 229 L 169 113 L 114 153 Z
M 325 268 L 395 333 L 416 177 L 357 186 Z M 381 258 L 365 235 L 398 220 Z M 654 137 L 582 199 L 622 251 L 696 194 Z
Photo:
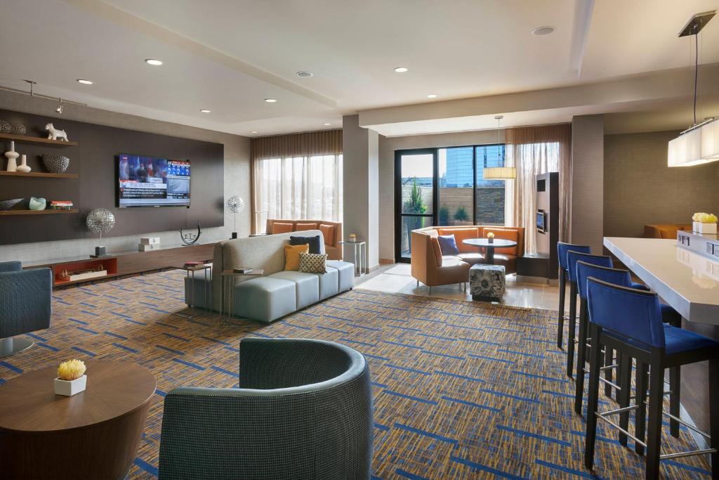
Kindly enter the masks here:
M 604 246 L 684 319 L 719 325 L 719 262 L 677 240 L 605 237 Z

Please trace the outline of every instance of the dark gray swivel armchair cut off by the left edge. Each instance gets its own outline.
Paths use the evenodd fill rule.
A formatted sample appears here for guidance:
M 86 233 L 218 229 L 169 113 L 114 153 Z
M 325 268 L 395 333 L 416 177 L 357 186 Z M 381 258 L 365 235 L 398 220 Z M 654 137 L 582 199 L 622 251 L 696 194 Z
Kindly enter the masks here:
M 0 357 L 32 347 L 29 338 L 15 335 L 50 327 L 52 271 L 23 270 L 17 261 L 0 262 Z

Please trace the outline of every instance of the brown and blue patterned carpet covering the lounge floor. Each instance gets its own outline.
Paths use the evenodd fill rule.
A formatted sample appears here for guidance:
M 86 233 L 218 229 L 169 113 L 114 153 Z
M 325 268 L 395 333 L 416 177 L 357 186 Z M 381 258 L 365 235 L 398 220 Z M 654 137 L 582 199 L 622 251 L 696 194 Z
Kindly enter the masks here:
M 158 390 L 130 477 L 152 478 L 165 392 L 236 386 L 246 335 L 321 338 L 370 363 L 377 479 L 644 476 L 643 459 L 604 425 L 597 476 L 583 468 L 585 422 L 573 412 L 552 312 L 356 289 L 272 325 L 221 326 L 216 316 L 171 314 L 185 307 L 182 279 L 166 271 L 56 291 L 52 327 L 31 335 L 32 349 L 0 361 L 0 384 L 68 358 L 147 366 Z M 613 405 L 604 399 L 601 407 Z M 695 448 L 687 430 L 663 441 L 665 452 Z M 662 462 L 671 479 L 705 478 L 708 468 L 699 457 Z

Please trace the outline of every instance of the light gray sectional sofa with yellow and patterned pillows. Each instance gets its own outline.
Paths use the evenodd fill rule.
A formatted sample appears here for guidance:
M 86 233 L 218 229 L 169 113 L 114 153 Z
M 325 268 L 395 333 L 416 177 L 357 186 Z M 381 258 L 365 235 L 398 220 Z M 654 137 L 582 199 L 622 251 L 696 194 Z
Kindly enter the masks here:
M 215 245 L 209 299 L 202 292 L 206 284 L 203 278 L 196 278 L 196 306 L 220 309 L 221 271 L 247 266 L 262 268 L 261 277 L 238 277 L 234 289 L 232 280 L 226 279 L 225 303 L 232 294 L 232 314 L 242 318 L 272 322 L 287 314 L 296 312 L 329 296 L 352 289 L 354 286 L 354 266 L 352 263 L 328 260 L 327 273 L 303 273 L 285 271 L 285 245 L 291 236 L 313 237 L 319 235 L 324 249 L 324 237 L 319 230 L 280 233 L 263 237 L 237 238 L 224 240 Z M 191 281 L 185 281 L 185 298 L 191 299 Z M 231 291 L 232 290 L 232 291 Z M 205 304 L 209 302 L 209 304 Z

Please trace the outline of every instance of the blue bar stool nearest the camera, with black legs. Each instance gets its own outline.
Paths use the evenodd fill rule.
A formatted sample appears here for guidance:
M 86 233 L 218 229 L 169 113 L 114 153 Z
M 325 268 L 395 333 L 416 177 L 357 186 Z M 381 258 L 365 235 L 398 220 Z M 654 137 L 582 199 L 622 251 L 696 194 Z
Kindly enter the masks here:
M 712 478 L 719 479 L 719 342 L 703 335 L 682 330 L 661 321 L 659 297 L 647 290 L 631 289 L 589 277 L 587 304 L 590 315 L 590 377 L 587 404 L 587 433 L 585 439 L 585 466 L 594 466 L 597 419 L 618 428 L 646 448 L 646 479 L 659 478 L 659 461 L 670 458 L 710 454 Z M 636 358 L 638 365 L 649 368 L 649 402 L 645 403 L 646 384 L 637 386 L 636 404 L 608 412 L 597 412 L 599 376 L 601 367 L 600 346 L 613 348 L 622 356 Z M 710 448 L 661 455 L 661 415 L 664 398 L 664 369 L 689 363 L 709 361 L 710 434 L 700 432 L 709 439 Z M 644 375 L 638 379 L 645 378 Z M 649 409 L 647 435 L 644 436 L 644 409 Z M 636 410 L 636 435 L 609 420 Z M 670 417 L 671 418 L 671 417 Z M 676 419 L 682 425 L 695 430 Z

